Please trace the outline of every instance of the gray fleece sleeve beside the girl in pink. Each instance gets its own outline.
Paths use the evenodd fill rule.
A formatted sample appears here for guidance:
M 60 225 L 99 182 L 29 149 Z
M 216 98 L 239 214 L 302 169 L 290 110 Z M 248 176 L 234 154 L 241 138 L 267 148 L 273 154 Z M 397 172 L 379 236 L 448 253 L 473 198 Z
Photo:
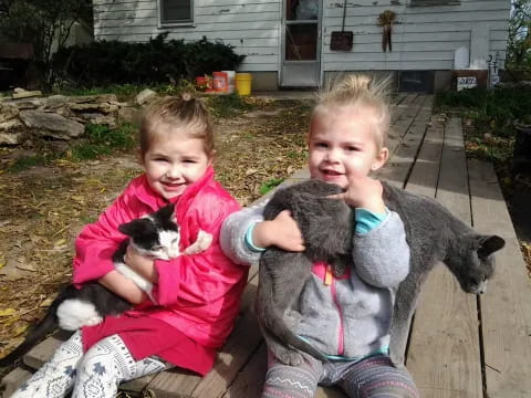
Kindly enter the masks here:
M 253 223 L 263 221 L 267 201 L 230 214 L 221 226 L 219 243 L 225 255 L 239 264 L 258 263 L 261 252 L 246 243 L 246 233 Z

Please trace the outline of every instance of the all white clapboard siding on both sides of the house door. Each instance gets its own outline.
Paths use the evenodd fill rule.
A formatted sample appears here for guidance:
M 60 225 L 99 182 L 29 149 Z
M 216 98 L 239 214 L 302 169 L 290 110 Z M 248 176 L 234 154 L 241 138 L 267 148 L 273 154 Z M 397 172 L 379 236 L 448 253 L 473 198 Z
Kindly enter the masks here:
M 354 32 L 351 51 L 330 50 L 331 32 L 341 30 L 342 0 L 323 0 L 322 65 L 333 71 L 451 70 L 460 46 L 470 61 L 498 52 L 503 66 L 509 24 L 509 0 L 461 0 L 455 6 L 409 7 L 409 0 L 347 1 L 345 30 Z M 159 28 L 157 0 L 94 0 L 96 40 L 147 41 L 169 32 L 170 39 L 219 40 L 247 57 L 241 70 L 279 71 L 281 65 L 282 0 L 195 0 L 194 25 Z M 377 17 L 397 15 L 393 52 L 382 51 Z

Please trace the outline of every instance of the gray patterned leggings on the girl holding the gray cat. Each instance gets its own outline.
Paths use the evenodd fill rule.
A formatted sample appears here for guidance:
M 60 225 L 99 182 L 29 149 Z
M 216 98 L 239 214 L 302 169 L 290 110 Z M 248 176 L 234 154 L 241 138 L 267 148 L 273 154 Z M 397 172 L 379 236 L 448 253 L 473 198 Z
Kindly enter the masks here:
M 384 355 L 357 363 L 327 363 L 305 357 L 300 366 L 270 363 L 262 398 L 313 398 L 317 384 L 339 386 L 351 398 L 418 398 L 406 369 L 397 369 Z

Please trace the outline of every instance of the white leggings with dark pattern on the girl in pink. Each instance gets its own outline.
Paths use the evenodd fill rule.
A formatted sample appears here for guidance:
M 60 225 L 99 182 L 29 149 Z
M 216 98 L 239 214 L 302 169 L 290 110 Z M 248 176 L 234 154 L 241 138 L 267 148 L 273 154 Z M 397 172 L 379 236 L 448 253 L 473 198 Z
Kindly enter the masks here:
M 64 342 L 12 398 L 112 398 L 122 381 L 152 375 L 171 365 L 156 357 L 135 360 L 118 335 L 100 341 L 83 355 L 81 333 Z

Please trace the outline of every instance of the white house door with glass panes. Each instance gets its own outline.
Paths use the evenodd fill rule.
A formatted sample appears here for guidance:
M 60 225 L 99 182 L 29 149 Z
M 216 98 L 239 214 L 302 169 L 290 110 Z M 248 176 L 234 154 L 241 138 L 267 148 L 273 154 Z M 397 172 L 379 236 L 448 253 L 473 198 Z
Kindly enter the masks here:
M 322 0 L 283 0 L 283 87 L 316 87 L 321 76 Z

